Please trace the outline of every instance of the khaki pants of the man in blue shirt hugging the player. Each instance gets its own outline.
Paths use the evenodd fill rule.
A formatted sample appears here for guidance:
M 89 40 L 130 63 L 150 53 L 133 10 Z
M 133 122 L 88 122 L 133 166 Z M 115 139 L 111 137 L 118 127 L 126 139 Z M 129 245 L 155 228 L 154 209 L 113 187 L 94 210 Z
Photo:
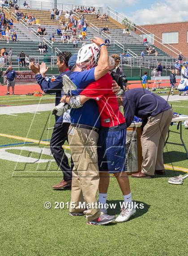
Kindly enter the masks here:
M 84 211 L 79 207 L 79 202 L 86 204 L 96 203 L 96 193 L 99 184 L 97 142 L 98 133 L 93 130 L 70 126 L 68 141 L 73 157 L 73 179 L 71 202 L 76 206 L 70 207 L 70 212 L 78 213 Z M 88 209 L 86 220 L 91 221 L 103 213 L 97 207 Z

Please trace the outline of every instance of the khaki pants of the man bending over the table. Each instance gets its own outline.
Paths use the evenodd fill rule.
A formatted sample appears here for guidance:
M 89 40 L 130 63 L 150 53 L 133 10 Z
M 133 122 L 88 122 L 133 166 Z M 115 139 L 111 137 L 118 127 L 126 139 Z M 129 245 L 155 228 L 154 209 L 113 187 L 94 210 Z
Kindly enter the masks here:
M 149 117 L 141 136 L 143 162 L 141 172 L 154 175 L 155 170 L 163 170 L 163 148 L 171 124 L 173 112 L 168 109 L 157 116 Z

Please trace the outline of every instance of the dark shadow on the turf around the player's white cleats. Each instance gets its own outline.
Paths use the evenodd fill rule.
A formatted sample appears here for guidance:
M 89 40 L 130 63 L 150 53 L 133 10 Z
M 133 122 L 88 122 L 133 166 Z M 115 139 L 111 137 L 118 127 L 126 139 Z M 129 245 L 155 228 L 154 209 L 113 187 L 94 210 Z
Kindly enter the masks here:
M 107 201 L 107 203 L 108 204 L 116 204 L 116 207 L 115 207 L 115 209 L 108 209 L 108 214 L 109 215 L 119 215 L 120 214 L 120 211 L 121 211 L 121 207 L 120 207 L 120 203 L 121 204 L 123 204 L 123 200 L 120 200 L 120 201 L 118 201 L 118 200 L 114 200 L 114 201 Z M 132 216 L 131 218 L 130 218 L 130 220 L 131 219 L 136 219 L 136 218 L 138 218 L 138 217 L 141 217 L 142 215 L 144 215 L 148 210 L 149 210 L 149 208 L 150 208 L 150 205 L 149 204 L 146 204 L 146 203 L 144 203 L 144 202 L 140 202 L 140 201 L 134 201 L 137 205 L 138 205 L 138 207 L 139 207 L 139 205 L 140 204 L 143 204 L 143 209 L 137 209 L 137 212 L 136 212 L 136 214 L 134 215 L 134 216 Z

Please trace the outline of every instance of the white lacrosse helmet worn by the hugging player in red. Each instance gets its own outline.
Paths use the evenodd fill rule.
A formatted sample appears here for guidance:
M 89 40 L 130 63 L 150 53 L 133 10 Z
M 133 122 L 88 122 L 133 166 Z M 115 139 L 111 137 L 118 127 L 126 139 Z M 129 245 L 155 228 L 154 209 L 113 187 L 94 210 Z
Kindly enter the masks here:
M 77 55 L 78 66 L 81 67 L 82 70 L 87 70 L 96 66 L 99 53 L 100 48 L 94 43 L 82 46 Z

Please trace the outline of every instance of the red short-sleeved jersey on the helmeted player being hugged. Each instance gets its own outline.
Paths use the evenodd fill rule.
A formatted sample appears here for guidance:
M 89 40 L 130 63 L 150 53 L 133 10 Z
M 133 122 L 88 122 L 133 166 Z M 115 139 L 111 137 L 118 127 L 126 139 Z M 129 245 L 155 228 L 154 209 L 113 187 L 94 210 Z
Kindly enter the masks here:
M 111 75 L 107 73 L 99 80 L 89 84 L 80 93 L 80 95 L 96 99 L 100 113 L 101 126 L 103 127 L 118 126 L 125 122 L 111 87 L 112 78 Z

